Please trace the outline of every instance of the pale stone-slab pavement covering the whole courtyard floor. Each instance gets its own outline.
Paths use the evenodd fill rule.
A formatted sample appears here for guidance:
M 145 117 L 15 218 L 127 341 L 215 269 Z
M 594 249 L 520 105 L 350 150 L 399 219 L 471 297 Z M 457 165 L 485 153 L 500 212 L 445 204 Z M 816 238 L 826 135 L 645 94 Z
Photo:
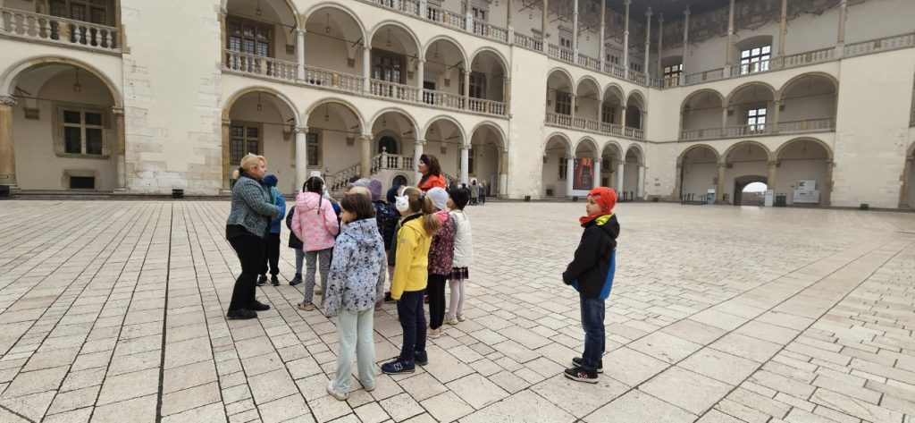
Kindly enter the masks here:
M 583 345 L 560 274 L 584 204 L 469 207 L 468 320 L 416 373 L 339 402 L 334 320 L 296 309 L 302 286 L 225 319 L 228 211 L 0 203 L 0 421 L 915 422 L 910 213 L 620 204 L 606 373 L 587 385 L 561 375 Z M 393 305 L 375 330 L 382 363 Z

